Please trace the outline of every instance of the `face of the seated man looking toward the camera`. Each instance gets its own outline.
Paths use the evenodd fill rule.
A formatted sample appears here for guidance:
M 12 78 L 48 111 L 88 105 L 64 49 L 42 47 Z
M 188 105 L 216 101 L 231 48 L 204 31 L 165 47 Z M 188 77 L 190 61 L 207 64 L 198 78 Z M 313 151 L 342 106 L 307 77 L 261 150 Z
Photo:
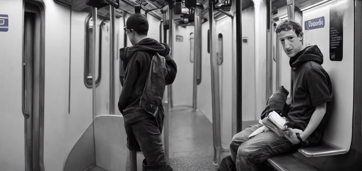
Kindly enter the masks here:
M 279 41 L 282 43 L 284 52 L 288 57 L 294 57 L 299 52 L 300 47 L 302 47 L 300 41 L 302 37 L 303 33 L 298 37 L 293 29 L 278 33 Z

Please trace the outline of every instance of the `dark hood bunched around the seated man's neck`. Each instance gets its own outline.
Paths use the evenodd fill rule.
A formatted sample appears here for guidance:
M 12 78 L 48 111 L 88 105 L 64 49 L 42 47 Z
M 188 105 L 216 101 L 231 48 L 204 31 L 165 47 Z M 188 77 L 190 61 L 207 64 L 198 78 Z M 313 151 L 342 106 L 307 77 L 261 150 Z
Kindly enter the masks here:
M 317 62 L 323 64 L 323 54 L 317 45 L 308 46 L 303 51 L 298 52 L 294 57 L 289 60 L 290 67 L 299 68 L 305 62 Z

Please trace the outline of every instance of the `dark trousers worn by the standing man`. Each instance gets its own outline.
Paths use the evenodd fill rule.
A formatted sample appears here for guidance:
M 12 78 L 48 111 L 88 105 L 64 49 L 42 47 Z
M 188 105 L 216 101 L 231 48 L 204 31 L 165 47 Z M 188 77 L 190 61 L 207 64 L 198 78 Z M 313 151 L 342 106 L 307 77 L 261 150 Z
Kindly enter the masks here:
M 130 126 L 145 158 L 144 169 L 147 171 L 172 171 L 162 146 L 162 126 L 159 129 L 155 119 L 131 123 Z

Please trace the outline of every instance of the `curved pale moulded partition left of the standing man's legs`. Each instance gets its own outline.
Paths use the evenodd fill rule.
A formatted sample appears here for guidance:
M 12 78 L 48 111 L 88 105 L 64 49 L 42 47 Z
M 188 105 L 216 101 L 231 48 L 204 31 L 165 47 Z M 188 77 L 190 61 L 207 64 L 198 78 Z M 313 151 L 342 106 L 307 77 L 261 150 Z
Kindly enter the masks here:
M 125 170 L 127 135 L 122 115 L 100 115 L 90 123 L 69 153 L 64 171 Z M 95 143 L 95 146 L 94 146 Z

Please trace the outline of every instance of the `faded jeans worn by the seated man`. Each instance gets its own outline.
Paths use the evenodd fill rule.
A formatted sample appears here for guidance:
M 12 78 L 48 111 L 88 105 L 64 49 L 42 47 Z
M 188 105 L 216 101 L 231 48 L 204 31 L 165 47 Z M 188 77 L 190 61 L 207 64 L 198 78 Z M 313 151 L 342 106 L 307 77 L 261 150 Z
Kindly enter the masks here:
M 298 151 L 299 144 L 294 145 L 270 130 L 249 139 L 249 135 L 262 126 L 260 123 L 250 126 L 232 138 L 230 152 L 237 171 L 254 171 L 271 156 Z

